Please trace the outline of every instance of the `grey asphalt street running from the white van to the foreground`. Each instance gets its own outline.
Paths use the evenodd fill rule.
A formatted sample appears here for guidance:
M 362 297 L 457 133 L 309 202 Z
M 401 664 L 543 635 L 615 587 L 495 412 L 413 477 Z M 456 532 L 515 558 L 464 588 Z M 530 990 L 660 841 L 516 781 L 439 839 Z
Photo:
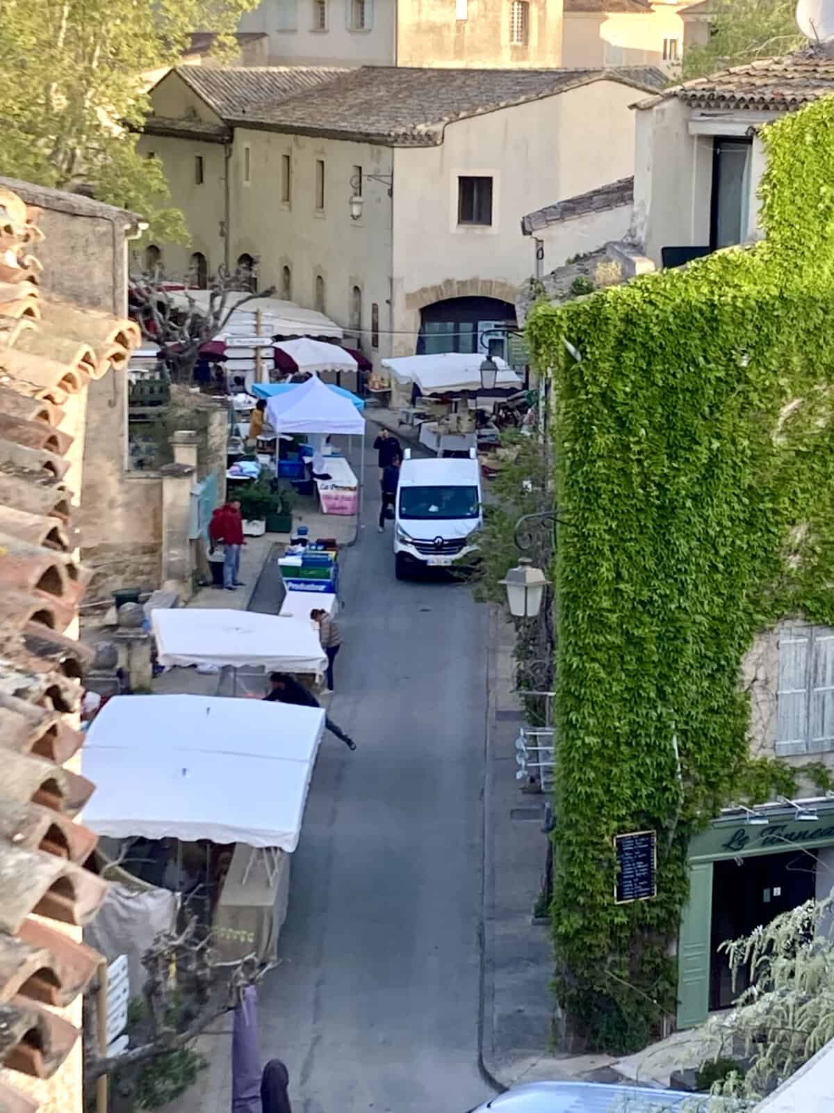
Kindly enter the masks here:
M 395 580 L 375 455 L 330 708 L 358 749 L 321 743 L 261 1047 L 301 1113 L 465 1113 L 492 1093 L 477 1065 L 487 615 L 466 584 Z

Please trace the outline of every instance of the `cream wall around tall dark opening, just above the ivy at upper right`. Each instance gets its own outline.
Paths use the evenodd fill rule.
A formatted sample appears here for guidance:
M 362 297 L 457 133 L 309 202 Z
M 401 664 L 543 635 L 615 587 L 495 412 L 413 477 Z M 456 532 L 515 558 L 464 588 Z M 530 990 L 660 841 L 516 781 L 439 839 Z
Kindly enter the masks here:
M 671 98 L 652 109 L 637 110 L 632 230 L 646 255 L 661 265 L 661 249 L 709 243 L 713 139 L 744 136 L 754 119 L 711 114 L 702 119 Z M 698 128 L 709 134 L 691 134 Z M 758 187 L 765 168 L 764 147 L 753 138 L 749 204 L 744 239 L 759 238 Z

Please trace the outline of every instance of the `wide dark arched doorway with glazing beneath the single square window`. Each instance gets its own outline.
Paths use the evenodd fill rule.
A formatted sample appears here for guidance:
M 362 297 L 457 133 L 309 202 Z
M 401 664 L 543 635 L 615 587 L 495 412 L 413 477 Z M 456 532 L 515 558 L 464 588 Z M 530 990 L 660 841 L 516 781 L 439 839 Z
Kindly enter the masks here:
M 450 297 L 420 309 L 417 355 L 483 352 L 504 356 L 506 333 L 496 326 L 516 323 L 515 306 L 497 297 Z

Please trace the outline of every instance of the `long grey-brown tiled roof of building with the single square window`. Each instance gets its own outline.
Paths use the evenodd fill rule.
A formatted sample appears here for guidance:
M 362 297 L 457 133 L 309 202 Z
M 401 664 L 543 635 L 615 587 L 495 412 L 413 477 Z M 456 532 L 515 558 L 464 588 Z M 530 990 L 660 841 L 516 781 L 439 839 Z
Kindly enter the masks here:
M 663 88 L 666 77 L 651 66 L 547 70 L 364 66 L 276 105 L 239 106 L 227 111 L 226 119 L 238 126 L 306 135 L 435 146 L 443 141 L 445 126 L 455 120 L 599 80 L 656 90 Z

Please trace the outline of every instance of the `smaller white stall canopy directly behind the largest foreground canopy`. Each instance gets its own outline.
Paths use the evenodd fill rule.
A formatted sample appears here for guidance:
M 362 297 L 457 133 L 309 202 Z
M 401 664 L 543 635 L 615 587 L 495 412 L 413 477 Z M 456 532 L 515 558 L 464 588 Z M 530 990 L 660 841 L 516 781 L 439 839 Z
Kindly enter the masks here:
M 327 658 L 309 621 L 256 611 L 162 608 L 150 614 L 160 664 L 254 666 L 319 676 Z

